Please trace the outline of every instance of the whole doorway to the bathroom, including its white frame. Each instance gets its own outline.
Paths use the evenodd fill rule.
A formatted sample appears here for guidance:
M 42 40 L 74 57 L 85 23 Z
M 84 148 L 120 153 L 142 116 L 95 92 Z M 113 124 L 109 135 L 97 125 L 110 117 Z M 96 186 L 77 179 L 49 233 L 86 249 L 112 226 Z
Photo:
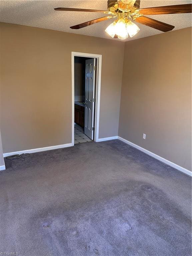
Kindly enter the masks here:
M 98 141 L 101 55 L 72 52 L 72 144 Z

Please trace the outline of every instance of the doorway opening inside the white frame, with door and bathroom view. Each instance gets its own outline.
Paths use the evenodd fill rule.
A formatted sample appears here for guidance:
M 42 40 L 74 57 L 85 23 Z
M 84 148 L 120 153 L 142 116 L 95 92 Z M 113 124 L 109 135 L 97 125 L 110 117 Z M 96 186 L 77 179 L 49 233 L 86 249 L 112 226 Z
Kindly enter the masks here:
M 95 58 L 74 58 L 74 144 L 94 139 Z

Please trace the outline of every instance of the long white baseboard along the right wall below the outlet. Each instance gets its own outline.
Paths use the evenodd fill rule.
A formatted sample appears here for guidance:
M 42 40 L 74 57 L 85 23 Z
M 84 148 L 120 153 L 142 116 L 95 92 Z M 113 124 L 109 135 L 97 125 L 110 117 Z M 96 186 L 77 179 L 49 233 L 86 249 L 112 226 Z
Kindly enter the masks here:
M 146 154 L 148 154 L 148 155 L 150 155 L 150 156 L 152 156 L 152 157 L 158 159 L 159 161 L 161 161 L 161 162 L 163 162 L 163 163 L 165 163 L 165 164 L 168 164 L 168 165 L 170 165 L 171 167 L 173 167 L 173 168 L 175 168 L 175 169 L 177 169 L 177 170 L 179 170 L 179 171 L 181 171 L 181 172 L 184 172 L 184 173 L 186 173 L 186 174 L 192 176 L 192 172 L 191 172 L 191 171 L 189 171 L 189 170 L 187 170 L 187 169 L 181 167 L 180 165 L 177 165 L 177 164 L 175 164 L 175 163 L 173 163 L 173 162 L 171 162 L 171 161 L 169 161 L 169 160 L 167 160 L 167 159 L 165 159 L 165 158 L 163 158 L 163 157 L 161 157 L 161 156 L 158 156 L 158 155 L 152 153 L 151 151 L 149 151 L 149 150 L 147 150 L 147 149 L 145 149 L 145 148 L 142 148 L 142 147 L 140 147 L 140 146 L 138 146 L 138 145 L 136 145 L 136 144 L 134 144 L 134 143 L 132 143 L 132 142 L 126 140 L 126 139 L 123 139 L 123 138 L 121 138 L 121 137 L 119 137 L 119 136 L 118 136 L 118 139 L 121 140 L 121 141 L 123 141 L 123 142 L 125 142 L 125 143 L 127 143 L 127 144 L 129 144 L 130 146 L 132 146 L 132 147 L 134 147 L 134 148 L 137 148 L 137 149 L 141 150 L 142 152 L 144 152 L 144 153 L 146 153 Z

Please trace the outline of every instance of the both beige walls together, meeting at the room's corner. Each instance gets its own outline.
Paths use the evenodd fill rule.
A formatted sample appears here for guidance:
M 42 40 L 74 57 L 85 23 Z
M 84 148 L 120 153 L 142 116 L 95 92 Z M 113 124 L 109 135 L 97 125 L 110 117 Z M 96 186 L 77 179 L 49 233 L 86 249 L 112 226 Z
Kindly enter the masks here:
M 191 170 L 191 28 L 124 44 L 0 25 L 4 153 L 71 142 L 77 51 L 102 54 L 99 138 L 116 136 L 119 124 L 119 136 Z

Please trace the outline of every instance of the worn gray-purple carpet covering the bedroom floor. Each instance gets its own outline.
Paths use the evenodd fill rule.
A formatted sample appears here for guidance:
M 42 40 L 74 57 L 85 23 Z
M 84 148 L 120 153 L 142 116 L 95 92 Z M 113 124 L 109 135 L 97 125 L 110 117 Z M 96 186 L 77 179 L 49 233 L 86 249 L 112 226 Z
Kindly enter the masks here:
M 0 252 L 191 255 L 190 176 L 119 140 L 5 163 Z

